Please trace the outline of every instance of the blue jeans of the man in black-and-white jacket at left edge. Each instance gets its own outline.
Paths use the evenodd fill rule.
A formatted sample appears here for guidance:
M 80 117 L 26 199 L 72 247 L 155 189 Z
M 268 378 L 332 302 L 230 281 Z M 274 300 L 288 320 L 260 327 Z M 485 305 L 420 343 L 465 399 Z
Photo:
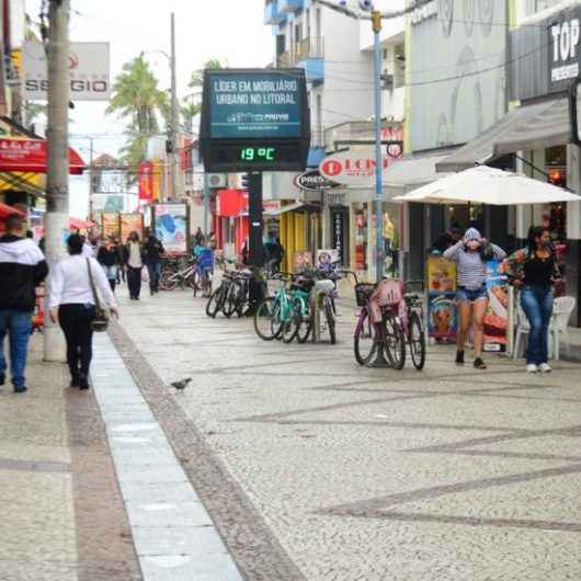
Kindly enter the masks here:
M 29 339 L 32 331 L 32 312 L 19 310 L 0 310 L 0 375 L 5 376 L 7 358 L 4 355 L 4 339 L 8 333 L 10 341 L 10 373 L 12 385 L 24 387 L 26 380 L 26 355 Z

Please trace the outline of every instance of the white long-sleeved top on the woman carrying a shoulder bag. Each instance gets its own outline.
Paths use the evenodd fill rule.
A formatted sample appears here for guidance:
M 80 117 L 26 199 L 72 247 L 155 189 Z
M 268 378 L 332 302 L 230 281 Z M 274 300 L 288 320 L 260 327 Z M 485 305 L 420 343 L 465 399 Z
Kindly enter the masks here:
M 115 307 L 115 296 L 111 290 L 103 269 L 95 259 L 89 259 L 93 282 L 103 306 Z M 87 258 L 80 254 L 59 261 L 49 276 L 50 296 L 48 308 L 59 305 L 94 305 L 93 292 L 89 281 Z

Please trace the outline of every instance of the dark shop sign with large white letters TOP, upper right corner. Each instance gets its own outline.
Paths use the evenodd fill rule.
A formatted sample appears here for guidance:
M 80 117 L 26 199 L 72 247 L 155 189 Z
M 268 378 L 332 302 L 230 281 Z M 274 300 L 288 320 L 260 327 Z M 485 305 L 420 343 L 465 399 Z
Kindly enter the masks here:
M 579 42 L 581 39 L 579 10 L 567 11 L 563 20 L 548 29 L 549 86 L 579 76 Z

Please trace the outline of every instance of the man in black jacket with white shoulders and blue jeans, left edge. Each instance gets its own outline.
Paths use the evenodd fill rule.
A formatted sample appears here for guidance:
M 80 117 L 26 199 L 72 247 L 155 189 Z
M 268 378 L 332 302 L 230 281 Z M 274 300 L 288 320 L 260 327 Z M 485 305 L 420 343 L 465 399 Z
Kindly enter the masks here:
M 36 287 L 48 274 L 48 266 L 34 240 L 23 238 L 22 219 L 12 215 L 0 238 L 0 385 L 5 383 L 4 339 L 10 335 L 10 372 L 16 394 L 26 391 L 24 372 Z

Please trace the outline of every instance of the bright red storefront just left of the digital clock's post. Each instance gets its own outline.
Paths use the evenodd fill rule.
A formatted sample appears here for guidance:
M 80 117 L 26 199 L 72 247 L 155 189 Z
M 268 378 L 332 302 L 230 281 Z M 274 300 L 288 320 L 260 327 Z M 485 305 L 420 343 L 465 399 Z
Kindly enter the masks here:
M 219 190 L 216 213 L 213 216 L 216 247 L 231 248 L 240 253 L 248 238 L 248 192 L 246 190 Z

